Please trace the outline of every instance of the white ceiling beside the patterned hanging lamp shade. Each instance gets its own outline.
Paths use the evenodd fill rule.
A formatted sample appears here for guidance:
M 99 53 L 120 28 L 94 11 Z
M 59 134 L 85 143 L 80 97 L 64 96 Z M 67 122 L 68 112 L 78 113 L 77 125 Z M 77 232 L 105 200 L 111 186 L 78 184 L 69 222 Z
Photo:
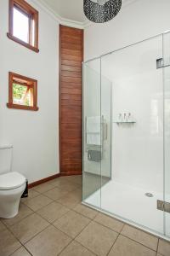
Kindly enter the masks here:
M 61 16 L 65 20 L 74 20 L 84 23 L 87 21 L 83 13 L 83 0 L 39 0 L 44 3 L 49 9 L 52 9 L 55 14 Z M 97 1 L 97 0 L 93 0 Z M 125 3 L 129 0 L 122 0 Z

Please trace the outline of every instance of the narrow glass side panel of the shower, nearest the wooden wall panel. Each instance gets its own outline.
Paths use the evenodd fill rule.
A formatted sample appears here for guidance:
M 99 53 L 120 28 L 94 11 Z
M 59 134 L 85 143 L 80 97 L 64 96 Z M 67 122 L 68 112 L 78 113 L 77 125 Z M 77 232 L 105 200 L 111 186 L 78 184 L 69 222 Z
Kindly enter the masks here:
M 83 201 L 100 207 L 101 187 L 101 114 L 100 60 L 83 67 Z

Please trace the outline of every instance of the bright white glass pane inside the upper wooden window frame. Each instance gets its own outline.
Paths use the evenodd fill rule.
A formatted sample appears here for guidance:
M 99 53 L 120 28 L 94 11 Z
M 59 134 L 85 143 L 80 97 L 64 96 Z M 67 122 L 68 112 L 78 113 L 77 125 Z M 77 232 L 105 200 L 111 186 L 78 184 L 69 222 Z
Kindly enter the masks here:
M 20 40 L 29 43 L 29 17 L 14 8 L 13 35 Z

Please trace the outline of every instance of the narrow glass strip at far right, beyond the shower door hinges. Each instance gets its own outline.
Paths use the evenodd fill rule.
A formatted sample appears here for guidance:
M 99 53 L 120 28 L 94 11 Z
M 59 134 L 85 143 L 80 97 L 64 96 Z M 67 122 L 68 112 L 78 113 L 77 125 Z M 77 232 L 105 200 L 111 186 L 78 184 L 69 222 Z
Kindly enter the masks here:
M 170 210 L 170 33 L 163 35 L 164 60 L 164 201 Z M 166 67 L 167 66 L 167 67 Z M 170 236 L 170 213 L 165 212 L 165 235 Z

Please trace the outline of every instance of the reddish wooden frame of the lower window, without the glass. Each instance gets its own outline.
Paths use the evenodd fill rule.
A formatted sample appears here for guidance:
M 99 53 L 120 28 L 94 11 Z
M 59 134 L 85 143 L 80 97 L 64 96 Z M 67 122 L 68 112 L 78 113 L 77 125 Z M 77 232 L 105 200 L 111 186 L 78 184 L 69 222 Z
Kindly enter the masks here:
M 33 106 L 25 106 L 20 104 L 13 103 L 13 84 L 16 82 L 17 84 L 27 86 L 29 89 L 33 89 Z M 37 111 L 37 80 L 30 79 L 25 76 L 22 76 L 17 73 L 8 73 L 8 108 L 15 108 L 15 109 L 23 109 L 23 110 L 31 110 Z

